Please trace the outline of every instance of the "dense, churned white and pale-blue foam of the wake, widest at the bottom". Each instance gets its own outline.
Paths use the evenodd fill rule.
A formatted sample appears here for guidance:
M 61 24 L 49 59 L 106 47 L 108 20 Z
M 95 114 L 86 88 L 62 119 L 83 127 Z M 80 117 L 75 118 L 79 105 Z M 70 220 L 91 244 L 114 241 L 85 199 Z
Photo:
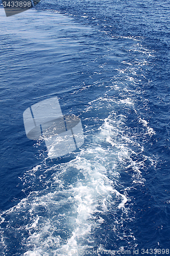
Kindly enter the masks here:
M 36 178 L 39 173 L 37 179 L 41 182 L 42 172 L 53 173 L 51 179 L 46 180 L 45 189 L 32 192 L 6 212 L 7 217 L 12 218 L 9 227 L 25 216 L 20 226 L 21 232 L 28 233 L 28 238 L 21 242 L 24 256 L 82 255 L 79 253 L 82 249 L 99 246 L 91 234 L 105 224 L 104 216 L 113 212 L 112 232 L 115 237 L 121 236 L 117 234 L 122 225 L 120 218 L 122 214 L 129 214 L 127 190 L 133 184 L 144 185 L 141 170 L 146 160 L 154 164 L 152 159 L 142 156 L 143 147 L 134 142 L 134 137 L 122 134 L 125 122 L 126 116 L 113 113 L 99 128 L 98 143 L 84 145 L 80 153 L 75 153 L 74 160 L 50 168 L 37 165 L 22 177 L 27 184 L 30 177 Z M 124 141 L 117 141 L 115 135 L 124 136 Z M 131 145 L 136 146 L 136 151 Z M 133 170 L 132 186 L 126 188 L 119 184 L 119 173 L 128 169 Z M 2 217 L 4 223 L 6 218 Z M 133 237 L 133 233 L 130 236 Z

